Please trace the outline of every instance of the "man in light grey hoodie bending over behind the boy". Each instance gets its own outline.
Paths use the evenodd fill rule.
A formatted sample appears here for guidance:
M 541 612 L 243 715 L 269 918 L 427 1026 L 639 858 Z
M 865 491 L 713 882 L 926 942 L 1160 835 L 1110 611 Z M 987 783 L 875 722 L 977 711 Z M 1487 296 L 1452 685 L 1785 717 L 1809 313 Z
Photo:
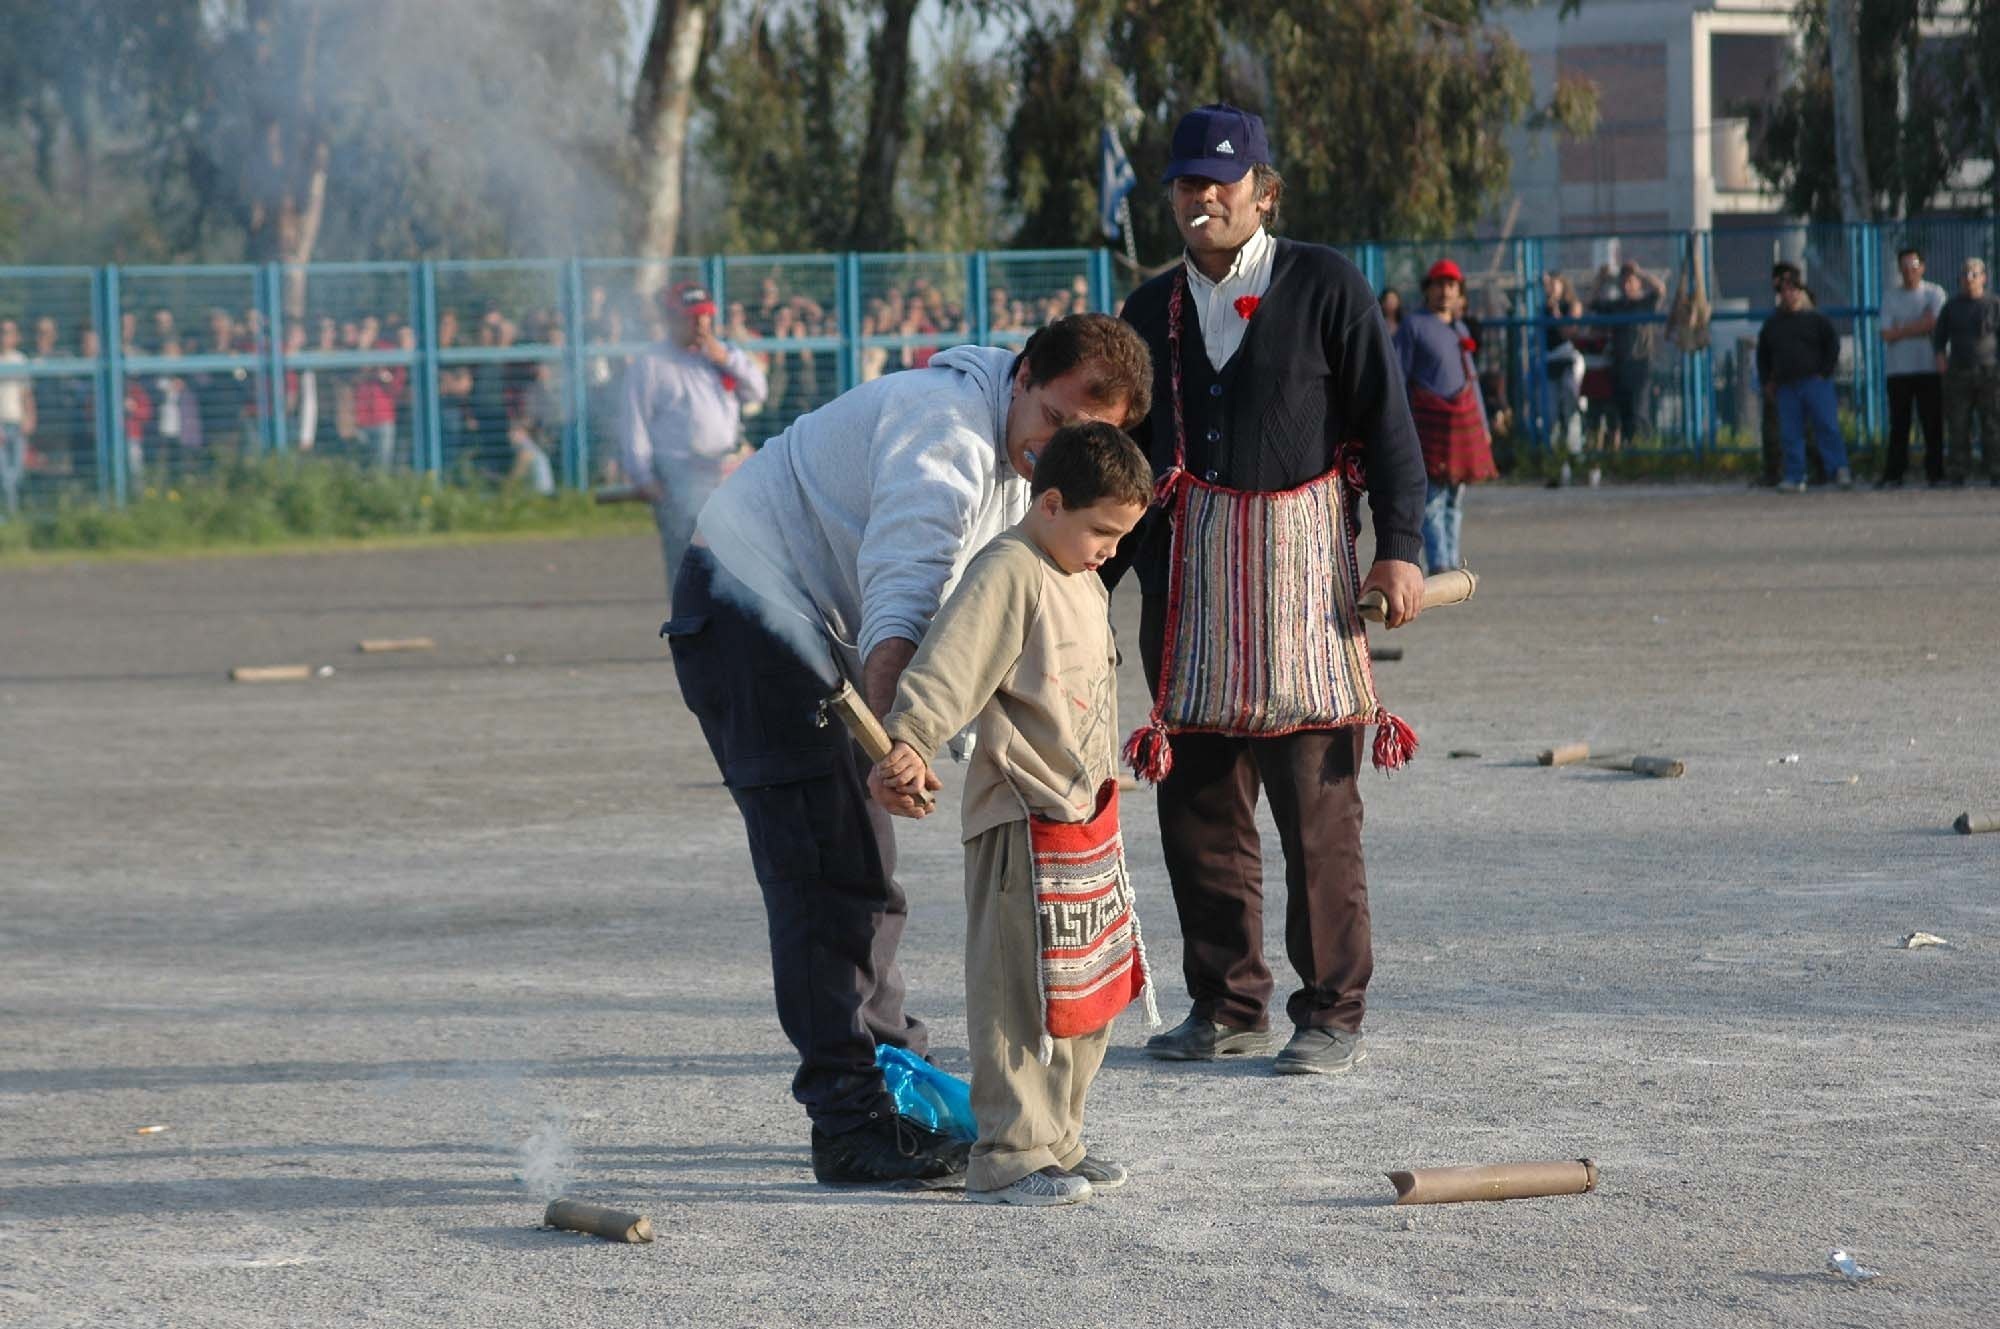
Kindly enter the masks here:
M 872 763 L 818 705 L 848 677 L 886 715 L 966 562 L 1026 512 L 1036 448 L 1138 422 L 1150 390 L 1132 328 L 1072 314 L 1020 354 L 956 346 L 860 384 L 702 508 L 662 636 L 750 837 L 822 1183 L 952 1185 L 968 1151 L 900 1117 L 876 1069 L 878 1043 L 926 1053 L 896 969 L 908 907 Z

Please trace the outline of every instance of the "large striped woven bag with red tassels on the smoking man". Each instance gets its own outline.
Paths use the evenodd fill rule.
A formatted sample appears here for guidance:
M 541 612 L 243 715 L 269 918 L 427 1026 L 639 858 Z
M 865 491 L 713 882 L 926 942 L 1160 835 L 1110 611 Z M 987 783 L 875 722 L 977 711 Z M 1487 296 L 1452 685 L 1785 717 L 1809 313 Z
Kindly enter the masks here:
M 1174 384 L 1174 466 L 1154 502 L 1174 522 L 1166 638 L 1152 715 L 1126 739 L 1144 781 L 1174 769 L 1172 735 L 1276 739 L 1312 729 L 1378 725 L 1374 765 L 1400 769 L 1416 735 L 1376 699 L 1358 610 L 1360 452 L 1342 448 L 1326 474 L 1298 488 L 1224 488 L 1188 470 L 1180 392 L 1180 310 L 1174 274 L 1166 340 Z

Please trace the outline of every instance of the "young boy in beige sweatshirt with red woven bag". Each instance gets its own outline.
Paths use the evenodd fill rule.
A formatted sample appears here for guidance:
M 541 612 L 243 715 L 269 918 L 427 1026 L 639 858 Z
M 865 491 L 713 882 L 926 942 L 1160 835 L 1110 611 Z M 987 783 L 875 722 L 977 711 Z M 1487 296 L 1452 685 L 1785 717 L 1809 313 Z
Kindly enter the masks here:
M 966 1197 L 1074 1205 L 1124 1185 L 1084 1147 L 1110 1021 L 1146 987 L 1118 839 L 1116 648 L 1096 568 L 1152 502 L 1112 424 L 1042 448 L 1032 506 L 966 566 L 902 675 L 874 799 L 922 817 L 930 757 L 978 717 L 966 767 L 966 1027 L 980 1139 Z M 1148 993 L 1150 1003 L 1150 993 Z

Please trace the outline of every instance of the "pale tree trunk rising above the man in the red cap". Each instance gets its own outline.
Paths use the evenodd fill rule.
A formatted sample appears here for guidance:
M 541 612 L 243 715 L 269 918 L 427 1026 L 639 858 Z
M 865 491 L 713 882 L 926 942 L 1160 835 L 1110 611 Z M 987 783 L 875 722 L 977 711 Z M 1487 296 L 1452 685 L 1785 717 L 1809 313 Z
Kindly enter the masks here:
M 644 210 L 638 252 L 648 260 L 640 272 L 644 290 L 666 278 L 680 234 L 682 164 L 688 158 L 688 112 L 694 78 L 702 64 L 702 38 L 714 0 L 660 0 L 646 38 L 646 58 L 632 94 L 632 138 L 640 150 Z

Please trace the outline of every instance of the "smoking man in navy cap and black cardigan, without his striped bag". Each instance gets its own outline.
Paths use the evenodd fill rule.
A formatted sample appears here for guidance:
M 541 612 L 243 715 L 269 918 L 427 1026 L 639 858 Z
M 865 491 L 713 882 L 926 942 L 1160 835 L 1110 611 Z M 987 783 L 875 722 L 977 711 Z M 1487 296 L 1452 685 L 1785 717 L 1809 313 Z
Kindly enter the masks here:
M 1324 482 L 1342 464 L 1342 446 L 1358 448 L 1374 518 L 1374 564 L 1362 588 L 1382 590 L 1388 624 L 1400 626 L 1422 608 L 1424 460 L 1374 290 L 1332 248 L 1268 232 L 1284 180 L 1258 116 L 1202 106 L 1180 120 L 1172 152 L 1166 202 L 1186 254 L 1124 306 L 1156 374 L 1154 410 L 1132 436 L 1168 482 L 1186 476 L 1256 494 Z M 1192 554 L 1176 544 L 1168 510 L 1154 508 L 1120 558 L 1106 578 L 1116 580 L 1124 564 L 1138 574 L 1140 656 L 1158 689 L 1170 604 Z M 1328 552 L 1302 574 L 1344 572 Z M 1298 576 L 1292 566 L 1290 580 Z M 1276 600 L 1246 612 L 1284 620 Z M 1366 1055 L 1360 1029 L 1374 961 L 1356 785 L 1362 737 L 1352 723 L 1270 737 L 1174 733 L 1172 767 L 1160 781 L 1160 841 L 1194 1009 L 1146 1045 L 1154 1057 L 1208 1061 L 1276 1043 L 1260 793 L 1284 845 L 1286 951 L 1300 975 L 1286 1005 L 1294 1033 L 1274 1069 L 1324 1075 Z

